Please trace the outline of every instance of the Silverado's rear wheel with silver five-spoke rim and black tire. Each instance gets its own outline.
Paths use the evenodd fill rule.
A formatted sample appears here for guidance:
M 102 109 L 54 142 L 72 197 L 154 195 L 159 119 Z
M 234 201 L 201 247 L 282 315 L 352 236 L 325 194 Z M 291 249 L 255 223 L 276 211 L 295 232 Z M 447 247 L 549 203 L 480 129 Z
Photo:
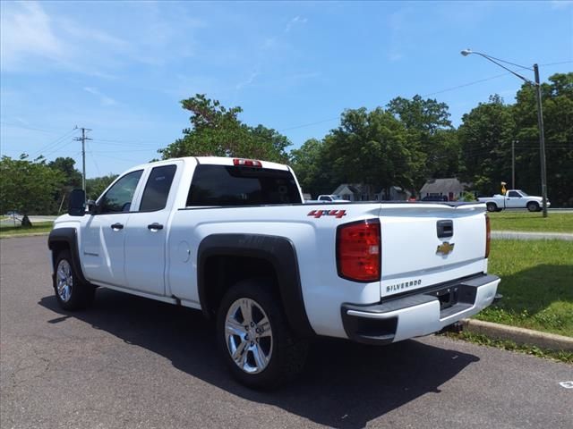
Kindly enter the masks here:
M 218 308 L 220 352 L 235 378 L 256 389 L 293 378 L 303 369 L 308 349 L 290 331 L 271 287 L 265 281 L 239 282 Z

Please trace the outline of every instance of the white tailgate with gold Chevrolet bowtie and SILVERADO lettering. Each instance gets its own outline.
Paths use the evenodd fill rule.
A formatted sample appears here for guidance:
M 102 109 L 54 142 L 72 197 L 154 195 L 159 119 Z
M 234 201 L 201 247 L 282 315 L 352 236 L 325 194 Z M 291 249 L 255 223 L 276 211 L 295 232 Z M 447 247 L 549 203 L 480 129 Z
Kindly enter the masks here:
M 483 204 L 382 204 L 381 297 L 487 269 Z

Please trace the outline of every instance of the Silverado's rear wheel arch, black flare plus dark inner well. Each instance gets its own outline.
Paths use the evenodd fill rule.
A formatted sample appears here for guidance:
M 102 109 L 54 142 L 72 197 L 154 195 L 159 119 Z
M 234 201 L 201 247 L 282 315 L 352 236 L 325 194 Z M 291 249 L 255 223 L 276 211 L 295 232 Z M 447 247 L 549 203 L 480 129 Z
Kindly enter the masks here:
M 314 334 L 291 240 L 261 234 L 212 234 L 201 241 L 197 254 L 197 289 L 204 315 L 215 314 L 232 281 L 271 277 L 291 328 L 300 336 Z

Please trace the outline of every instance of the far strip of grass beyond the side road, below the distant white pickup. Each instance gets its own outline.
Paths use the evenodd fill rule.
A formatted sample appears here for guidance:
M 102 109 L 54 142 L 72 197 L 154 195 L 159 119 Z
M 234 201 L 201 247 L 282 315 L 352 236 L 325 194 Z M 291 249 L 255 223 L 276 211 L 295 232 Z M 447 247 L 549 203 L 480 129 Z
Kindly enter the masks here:
M 573 232 L 573 213 L 489 213 L 493 231 Z

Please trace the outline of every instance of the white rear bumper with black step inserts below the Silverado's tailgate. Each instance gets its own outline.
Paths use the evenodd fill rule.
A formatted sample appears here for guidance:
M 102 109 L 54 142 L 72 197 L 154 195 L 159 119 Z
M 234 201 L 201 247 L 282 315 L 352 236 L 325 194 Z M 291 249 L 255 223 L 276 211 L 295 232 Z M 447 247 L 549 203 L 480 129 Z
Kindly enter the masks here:
M 428 335 L 490 306 L 499 283 L 479 274 L 378 304 L 343 304 L 342 324 L 350 340 L 368 344 Z

